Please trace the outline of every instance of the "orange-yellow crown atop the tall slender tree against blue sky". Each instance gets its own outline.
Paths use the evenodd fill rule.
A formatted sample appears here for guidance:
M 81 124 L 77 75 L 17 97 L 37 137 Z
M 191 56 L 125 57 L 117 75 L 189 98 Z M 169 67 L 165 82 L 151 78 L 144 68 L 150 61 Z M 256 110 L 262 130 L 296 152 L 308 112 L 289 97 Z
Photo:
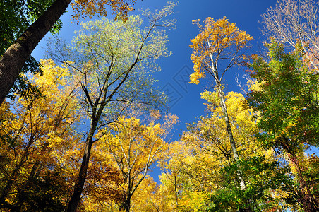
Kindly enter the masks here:
M 219 20 L 206 18 L 204 26 L 200 25 L 199 22 L 200 20 L 193 20 L 193 24 L 198 26 L 200 34 L 191 39 L 192 45 L 190 45 L 193 49 L 191 61 L 194 64 L 194 73 L 190 76 L 190 83 L 196 84 L 199 83 L 200 78 L 205 78 L 205 71 L 208 73 L 217 71 L 217 66 L 214 63 L 220 59 L 220 55 L 228 51 L 226 54 L 230 52 L 229 55 L 234 57 L 231 59 L 236 61 L 238 59 L 236 54 L 246 47 L 249 40 L 253 40 L 251 35 L 236 28 L 234 23 L 229 23 L 226 17 Z

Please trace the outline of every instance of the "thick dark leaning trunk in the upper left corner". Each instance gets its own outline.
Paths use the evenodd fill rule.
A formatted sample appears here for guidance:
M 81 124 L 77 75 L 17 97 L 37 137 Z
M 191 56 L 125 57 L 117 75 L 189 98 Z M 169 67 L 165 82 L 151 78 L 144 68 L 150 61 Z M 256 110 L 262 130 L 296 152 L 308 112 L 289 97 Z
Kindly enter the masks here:
M 4 102 L 33 49 L 66 11 L 70 2 L 71 0 L 54 1 L 52 6 L 6 50 L 0 60 L 0 105 Z

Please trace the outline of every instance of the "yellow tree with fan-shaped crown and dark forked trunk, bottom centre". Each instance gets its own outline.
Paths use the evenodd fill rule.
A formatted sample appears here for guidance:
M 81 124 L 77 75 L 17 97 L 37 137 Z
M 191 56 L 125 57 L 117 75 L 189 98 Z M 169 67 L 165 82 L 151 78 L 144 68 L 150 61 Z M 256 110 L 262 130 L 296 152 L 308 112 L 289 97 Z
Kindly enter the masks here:
M 139 109 L 129 112 L 126 117 L 119 117 L 102 132 L 101 151 L 109 155 L 107 158 L 112 158 L 112 165 L 124 178 L 121 185 L 124 201 L 120 204 L 120 211 L 130 211 L 133 194 L 147 177 L 151 166 L 162 157 L 167 148 L 165 139 L 177 121 L 176 116 L 167 115 L 160 124 L 156 123 L 159 112 L 153 111 L 150 116 L 141 112 Z

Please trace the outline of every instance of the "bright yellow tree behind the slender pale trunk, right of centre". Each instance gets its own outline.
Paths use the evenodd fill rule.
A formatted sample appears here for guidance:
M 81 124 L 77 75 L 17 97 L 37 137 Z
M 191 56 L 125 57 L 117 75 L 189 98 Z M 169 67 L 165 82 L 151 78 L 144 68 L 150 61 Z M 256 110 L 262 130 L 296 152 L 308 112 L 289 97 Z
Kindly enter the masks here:
M 206 90 L 201 95 L 207 100 L 209 112 L 207 116 L 201 117 L 197 123 L 189 126 L 181 139 L 186 145 L 193 146 L 193 155 L 198 160 L 195 170 L 204 169 L 204 173 L 194 181 L 198 181 L 200 188 L 205 188 L 203 190 L 208 192 L 220 189 L 222 175 L 219 172 L 223 167 L 236 163 L 236 160 L 234 161 L 231 155 L 231 144 L 217 90 Z M 224 96 L 224 100 L 232 133 L 236 139 L 236 150 L 242 159 L 250 158 L 258 153 L 254 138 L 257 128 L 251 120 L 253 112 L 245 107 L 243 95 L 239 93 L 229 92 Z

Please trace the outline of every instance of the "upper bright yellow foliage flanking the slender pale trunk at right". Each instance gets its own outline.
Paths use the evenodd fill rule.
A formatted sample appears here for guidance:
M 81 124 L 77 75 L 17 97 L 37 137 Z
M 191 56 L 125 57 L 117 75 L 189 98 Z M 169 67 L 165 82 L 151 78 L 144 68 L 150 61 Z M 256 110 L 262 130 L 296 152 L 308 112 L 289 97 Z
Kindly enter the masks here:
M 215 138 L 222 141 L 225 149 L 230 149 L 226 124 L 224 123 L 222 108 L 220 107 L 220 98 L 217 91 L 210 92 L 205 90 L 201 93 L 202 98 L 207 100 L 207 110 L 211 112 L 210 117 L 198 122 L 198 127 L 203 131 L 215 134 Z M 251 156 L 257 148 L 254 144 L 254 134 L 258 128 L 253 119 L 253 109 L 246 107 L 246 99 L 241 93 L 229 92 L 225 96 L 227 112 L 231 129 L 234 134 L 236 146 L 239 151 L 244 151 L 241 155 Z M 248 146 L 247 146 L 248 145 Z M 244 158 L 245 158 L 244 157 Z

